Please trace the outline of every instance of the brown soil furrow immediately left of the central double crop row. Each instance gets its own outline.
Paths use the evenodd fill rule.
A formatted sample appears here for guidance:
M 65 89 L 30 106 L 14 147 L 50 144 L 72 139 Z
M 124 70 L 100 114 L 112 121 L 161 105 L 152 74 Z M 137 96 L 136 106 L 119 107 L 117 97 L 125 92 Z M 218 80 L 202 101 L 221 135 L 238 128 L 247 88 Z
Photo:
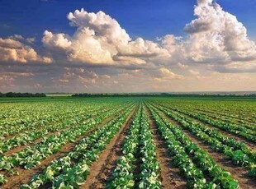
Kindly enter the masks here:
M 105 188 L 107 181 L 111 178 L 111 173 L 116 168 L 117 159 L 121 156 L 121 145 L 126 137 L 126 132 L 130 127 L 132 118 L 138 108 L 135 108 L 121 130 L 111 139 L 107 148 L 99 154 L 99 158 L 92 164 L 90 173 L 82 186 L 79 188 L 99 189 Z

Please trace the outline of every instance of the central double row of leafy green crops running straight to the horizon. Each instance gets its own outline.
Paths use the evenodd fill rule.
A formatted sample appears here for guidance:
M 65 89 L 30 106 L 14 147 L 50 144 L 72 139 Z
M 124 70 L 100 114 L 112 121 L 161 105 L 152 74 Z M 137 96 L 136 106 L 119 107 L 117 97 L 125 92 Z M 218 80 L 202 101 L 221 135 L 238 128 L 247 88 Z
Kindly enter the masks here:
M 135 174 L 135 165 L 139 173 Z M 139 164 L 139 165 L 138 165 Z M 135 114 L 129 135 L 122 146 L 122 155 L 107 188 L 161 188 L 159 163 L 145 107 Z

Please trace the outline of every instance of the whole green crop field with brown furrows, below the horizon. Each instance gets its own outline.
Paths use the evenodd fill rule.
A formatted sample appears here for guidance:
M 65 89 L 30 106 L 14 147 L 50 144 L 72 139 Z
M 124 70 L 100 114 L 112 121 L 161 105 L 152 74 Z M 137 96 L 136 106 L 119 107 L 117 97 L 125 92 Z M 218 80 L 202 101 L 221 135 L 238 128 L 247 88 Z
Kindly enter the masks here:
M 0 101 L 0 188 L 256 188 L 256 100 Z

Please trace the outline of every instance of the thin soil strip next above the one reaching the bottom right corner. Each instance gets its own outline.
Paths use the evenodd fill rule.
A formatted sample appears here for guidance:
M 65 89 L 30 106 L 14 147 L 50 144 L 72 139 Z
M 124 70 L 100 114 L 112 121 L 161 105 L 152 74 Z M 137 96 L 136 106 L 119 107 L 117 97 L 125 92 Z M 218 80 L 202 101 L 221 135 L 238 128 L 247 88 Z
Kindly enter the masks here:
M 171 111 L 177 112 L 177 111 L 175 111 L 175 110 L 171 110 Z M 179 113 L 179 112 L 178 112 L 178 113 Z M 232 133 L 230 133 L 230 132 L 228 132 L 228 131 L 224 131 L 224 130 L 218 128 L 218 127 L 214 127 L 214 126 L 212 126 L 211 124 L 208 124 L 208 123 L 205 123 L 205 122 L 201 122 L 201 121 L 198 120 L 197 118 L 192 118 L 191 116 L 189 116 L 189 115 L 187 115 L 187 114 L 185 114 L 185 113 L 180 113 L 180 114 L 183 115 L 183 116 L 185 116 L 185 117 L 187 117 L 187 118 L 192 119 L 193 122 L 198 122 L 198 123 L 200 123 L 200 124 L 202 124 L 202 125 L 205 125 L 205 126 L 207 126 L 207 127 L 210 127 L 211 129 L 215 129 L 216 131 L 219 131 L 221 134 L 223 134 L 223 135 L 225 135 L 225 136 L 229 136 L 230 138 L 234 138 L 235 141 L 242 141 L 242 142 L 244 142 L 244 144 L 245 144 L 248 148 L 250 148 L 251 150 L 254 150 L 254 151 L 256 152 L 256 145 L 254 144 L 254 142 L 248 141 L 248 140 L 244 139 L 243 136 L 236 136 L 235 134 L 232 134 Z

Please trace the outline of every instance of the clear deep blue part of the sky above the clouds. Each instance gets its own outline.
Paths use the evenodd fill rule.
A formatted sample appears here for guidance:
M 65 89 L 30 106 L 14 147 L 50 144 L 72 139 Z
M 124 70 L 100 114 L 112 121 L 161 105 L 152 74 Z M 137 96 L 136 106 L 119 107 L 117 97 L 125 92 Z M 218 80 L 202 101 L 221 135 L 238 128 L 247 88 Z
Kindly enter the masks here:
M 256 2 L 254 0 L 219 0 L 226 11 L 238 17 L 249 30 L 256 34 Z M 196 1 L 146 0 L 1 0 L 1 36 L 20 34 L 42 35 L 44 30 L 72 34 L 65 19 L 69 12 L 82 7 L 88 12 L 103 11 L 115 18 L 132 37 L 155 39 L 169 33 L 184 35 L 184 25 L 191 21 Z

